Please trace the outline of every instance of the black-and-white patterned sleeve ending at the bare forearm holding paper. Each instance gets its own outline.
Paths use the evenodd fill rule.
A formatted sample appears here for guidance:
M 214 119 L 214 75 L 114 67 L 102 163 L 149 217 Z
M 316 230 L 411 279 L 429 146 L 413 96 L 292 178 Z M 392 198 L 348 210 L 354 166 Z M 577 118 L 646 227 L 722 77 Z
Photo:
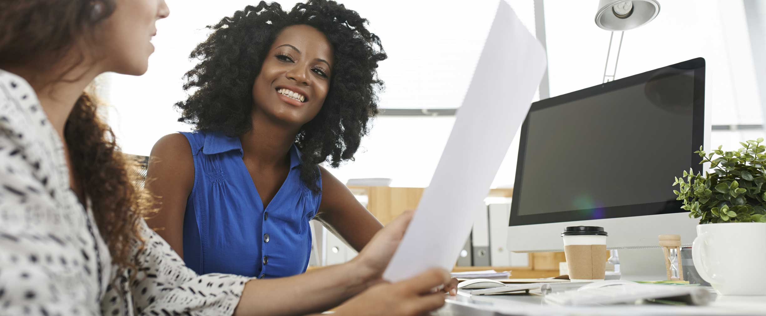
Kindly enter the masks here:
M 170 245 L 142 221 L 146 246 L 139 252 L 138 273 L 118 278 L 119 288 L 130 295 L 136 314 L 231 315 L 250 278 L 240 275 L 197 275 L 185 266 Z M 131 276 L 135 275 L 133 280 Z M 119 309 L 119 292 L 107 290 L 102 303 L 105 315 Z M 118 313 L 119 314 L 119 313 Z

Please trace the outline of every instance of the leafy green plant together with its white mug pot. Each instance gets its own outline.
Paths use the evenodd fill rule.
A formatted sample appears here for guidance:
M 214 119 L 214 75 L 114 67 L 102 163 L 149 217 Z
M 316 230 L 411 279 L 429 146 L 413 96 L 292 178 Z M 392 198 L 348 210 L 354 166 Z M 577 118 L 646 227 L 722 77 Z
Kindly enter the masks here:
M 689 217 L 699 218 L 694 266 L 721 295 L 766 295 L 766 145 L 763 138 L 695 153 L 705 175 L 683 171 L 673 193 Z M 718 158 L 713 159 L 715 155 Z M 732 269 L 735 267 L 735 269 Z

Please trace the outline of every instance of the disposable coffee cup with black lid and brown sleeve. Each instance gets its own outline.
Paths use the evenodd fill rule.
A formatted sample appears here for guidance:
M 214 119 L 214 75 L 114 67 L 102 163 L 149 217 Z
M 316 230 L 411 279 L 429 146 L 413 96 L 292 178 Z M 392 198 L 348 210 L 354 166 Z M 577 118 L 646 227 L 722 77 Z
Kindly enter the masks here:
M 569 226 L 561 233 L 572 282 L 604 281 L 607 232 L 599 226 Z

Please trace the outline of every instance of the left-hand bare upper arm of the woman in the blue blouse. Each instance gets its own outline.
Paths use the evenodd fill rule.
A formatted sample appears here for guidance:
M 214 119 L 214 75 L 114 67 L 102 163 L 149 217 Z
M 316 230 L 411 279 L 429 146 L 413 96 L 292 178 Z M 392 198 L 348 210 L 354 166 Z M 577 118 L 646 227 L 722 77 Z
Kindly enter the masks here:
M 146 220 L 170 246 L 184 257 L 184 213 L 194 185 L 194 160 L 184 135 L 175 133 L 159 138 L 152 148 L 146 188 L 156 197 L 159 210 Z

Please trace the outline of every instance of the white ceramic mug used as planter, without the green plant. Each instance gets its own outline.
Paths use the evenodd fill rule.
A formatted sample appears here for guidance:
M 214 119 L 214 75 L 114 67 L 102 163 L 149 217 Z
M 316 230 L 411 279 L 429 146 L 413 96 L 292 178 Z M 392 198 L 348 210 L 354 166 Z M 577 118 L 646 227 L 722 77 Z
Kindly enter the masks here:
M 692 259 L 720 295 L 766 295 L 766 223 L 698 225 Z

